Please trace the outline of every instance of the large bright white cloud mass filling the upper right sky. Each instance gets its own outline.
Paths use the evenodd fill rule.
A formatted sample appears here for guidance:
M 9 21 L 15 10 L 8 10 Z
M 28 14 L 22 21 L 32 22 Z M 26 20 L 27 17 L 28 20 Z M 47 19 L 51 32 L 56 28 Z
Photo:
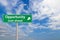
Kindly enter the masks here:
M 44 0 L 39 2 L 38 0 L 30 0 L 30 8 L 32 11 L 36 11 L 33 14 L 33 20 L 42 20 L 49 17 L 48 28 L 54 30 L 60 30 L 60 0 Z M 43 27 L 43 26 L 42 26 Z

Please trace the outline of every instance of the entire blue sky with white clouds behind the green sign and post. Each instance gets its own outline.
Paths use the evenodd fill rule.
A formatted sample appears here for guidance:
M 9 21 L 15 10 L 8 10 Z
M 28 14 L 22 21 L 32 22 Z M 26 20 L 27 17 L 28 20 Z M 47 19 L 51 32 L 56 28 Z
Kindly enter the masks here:
M 0 0 L 0 40 L 15 40 L 16 23 L 4 23 L 3 14 L 32 14 L 31 23 L 19 23 L 19 40 L 60 40 L 60 0 Z

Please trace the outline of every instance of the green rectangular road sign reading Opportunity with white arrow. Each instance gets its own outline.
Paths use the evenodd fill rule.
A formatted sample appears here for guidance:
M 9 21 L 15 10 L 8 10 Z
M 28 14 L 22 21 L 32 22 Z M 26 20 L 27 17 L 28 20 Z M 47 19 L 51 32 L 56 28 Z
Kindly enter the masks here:
M 32 22 L 32 15 L 3 15 L 3 22 Z

